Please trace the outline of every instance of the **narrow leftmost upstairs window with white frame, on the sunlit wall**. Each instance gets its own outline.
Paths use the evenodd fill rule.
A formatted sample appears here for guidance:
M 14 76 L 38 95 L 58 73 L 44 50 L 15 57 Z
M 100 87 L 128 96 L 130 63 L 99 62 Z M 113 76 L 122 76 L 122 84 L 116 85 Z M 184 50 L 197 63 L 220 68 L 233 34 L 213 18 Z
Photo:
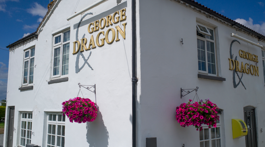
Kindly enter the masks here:
M 24 51 L 23 84 L 33 84 L 35 47 Z

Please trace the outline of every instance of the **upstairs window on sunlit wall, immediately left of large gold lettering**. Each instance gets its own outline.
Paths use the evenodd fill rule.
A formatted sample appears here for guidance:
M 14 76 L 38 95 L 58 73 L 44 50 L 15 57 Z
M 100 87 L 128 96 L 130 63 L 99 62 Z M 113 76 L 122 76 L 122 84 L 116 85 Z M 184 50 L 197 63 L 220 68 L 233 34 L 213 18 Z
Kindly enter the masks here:
M 69 50 L 70 31 L 54 35 L 52 78 L 68 76 Z

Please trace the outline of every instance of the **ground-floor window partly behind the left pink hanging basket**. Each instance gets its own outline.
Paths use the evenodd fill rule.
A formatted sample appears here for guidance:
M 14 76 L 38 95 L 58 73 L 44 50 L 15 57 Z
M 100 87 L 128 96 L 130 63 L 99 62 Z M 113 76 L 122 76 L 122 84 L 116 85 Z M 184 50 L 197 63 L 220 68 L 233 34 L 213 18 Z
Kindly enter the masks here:
M 64 147 L 65 116 L 62 113 L 48 114 L 47 147 Z

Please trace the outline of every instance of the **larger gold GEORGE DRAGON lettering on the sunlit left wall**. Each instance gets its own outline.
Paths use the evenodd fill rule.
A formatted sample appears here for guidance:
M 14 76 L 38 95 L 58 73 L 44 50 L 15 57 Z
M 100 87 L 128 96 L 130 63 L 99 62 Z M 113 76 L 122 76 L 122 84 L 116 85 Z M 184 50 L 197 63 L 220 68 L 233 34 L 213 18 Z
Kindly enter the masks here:
M 122 9 L 120 11 L 115 12 L 112 16 L 109 15 L 105 18 L 102 18 L 100 20 L 97 20 L 95 22 L 92 22 L 88 25 L 87 31 L 92 34 L 95 31 L 98 31 L 99 29 L 104 29 L 105 26 L 108 27 L 110 25 L 113 24 L 117 24 L 119 21 L 123 21 L 126 20 L 126 15 L 125 15 L 126 9 Z M 118 15 L 117 17 L 115 17 L 116 15 Z M 116 19 L 116 20 L 115 20 Z M 111 22 L 112 21 L 112 22 Z M 103 25 L 102 25 L 103 22 Z M 115 40 L 115 35 L 116 35 L 116 40 L 115 41 L 119 41 L 119 37 L 118 34 L 120 33 L 120 35 L 122 36 L 123 39 L 125 39 L 125 26 L 127 23 L 123 23 L 123 31 L 120 28 L 120 26 L 115 26 L 116 31 L 113 28 L 110 28 L 106 31 L 106 34 L 104 31 L 101 31 L 97 34 L 96 39 L 94 39 L 93 35 L 91 35 L 89 41 L 88 41 L 88 47 L 86 46 L 87 44 L 87 39 L 86 38 L 82 38 L 81 39 L 81 43 L 77 40 L 74 41 L 74 47 L 73 47 L 73 54 L 78 53 L 78 51 L 80 50 L 80 52 L 84 51 L 84 50 L 90 50 L 90 49 L 94 49 L 97 46 L 103 46 L 105 44 L 105 41 L 107 42 L 107 44 L 111 44 L 114 40 Z M 93 26 L 93 27 L 91 27 Z M 111 39 L 108 38 L 108 34 L 109 32 L 112 32 L 112 37 Z M 103 36 L 103 38 L 100 38 L 100 35 Z M 104 37 L 105 36 L 105 37 Z M 96 44 L 95 41 L 96 40 Z M 100 40 L 100 41 L 99 41 Z M 76 49 L 76 45 L 77 45 L 77 49 Z M 91 48 L 90 48 L 91 46 Z M 81 48 L 81 49 L 80 49 Z

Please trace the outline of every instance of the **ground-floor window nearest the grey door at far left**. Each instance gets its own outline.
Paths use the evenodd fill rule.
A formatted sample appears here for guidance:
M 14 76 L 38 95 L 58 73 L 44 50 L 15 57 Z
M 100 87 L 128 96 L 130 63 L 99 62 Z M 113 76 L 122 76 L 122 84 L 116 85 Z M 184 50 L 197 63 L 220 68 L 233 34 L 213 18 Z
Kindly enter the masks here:
M 20 146 L 31 143 L 32 112 L 21 113 Z

